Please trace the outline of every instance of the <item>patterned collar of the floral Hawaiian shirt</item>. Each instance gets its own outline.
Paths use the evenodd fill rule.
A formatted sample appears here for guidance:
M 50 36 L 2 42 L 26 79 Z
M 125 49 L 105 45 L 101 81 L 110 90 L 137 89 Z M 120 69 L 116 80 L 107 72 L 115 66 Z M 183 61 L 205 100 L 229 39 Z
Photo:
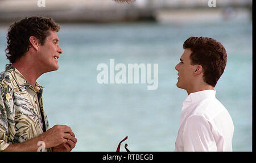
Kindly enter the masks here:
M 27 90 L 28 87 L 31 86 L 31 84 L 26 80 L 26 78 L 23 77 L 23 75 L 19 72 L 18 69 L 15 69 L 11 64 L 7 64 L 5 66 L 6 72 L 10 72 L 16 81 L 17 85 L 19 86 L 19 89 L 21 91 Z M 43 86 L 40 86 L 38 82 L 35 83 L 35 87 L 39 87 L 40 89 L 43 89 Z M 31 86 L 32 87 L 32 86 Z M 34 89 L 32 87 L 32 89 Z

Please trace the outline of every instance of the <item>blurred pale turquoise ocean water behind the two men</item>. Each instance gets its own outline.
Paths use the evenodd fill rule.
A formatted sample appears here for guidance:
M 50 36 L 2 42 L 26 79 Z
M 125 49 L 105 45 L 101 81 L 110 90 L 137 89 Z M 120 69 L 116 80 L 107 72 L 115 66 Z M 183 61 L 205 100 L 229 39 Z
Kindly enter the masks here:
M 7 26 L 0 27 L 0 70 L 5 69 Z M 50 127 L 66 124 L 78 141 L 73 151 L 174 151 L 181 106 L 175 65 L 190 36 L 212 37 L 228 53 L 215 89 L 234 123 L 233 151 L 252 151 L 252 23 L 61 24 L 59 70 L 43 74 L 43 104 Z M 110 59 L 158 64 L 158 89 L 148 83 L 99 84 L 97 65 Z M 115 72 L 117 73 L 117 72 Z

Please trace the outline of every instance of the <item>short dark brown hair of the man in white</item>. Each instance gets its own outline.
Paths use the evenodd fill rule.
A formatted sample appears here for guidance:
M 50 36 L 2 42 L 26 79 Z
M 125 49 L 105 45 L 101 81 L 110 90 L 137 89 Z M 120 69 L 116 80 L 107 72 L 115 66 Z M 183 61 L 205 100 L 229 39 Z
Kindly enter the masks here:
M 208 37 L 189 37 L 183 48 L 191 49 L 191 65 L 203 66 L 204 82 L 214 87 L 226 66 L 226 50 L 223 45 Z

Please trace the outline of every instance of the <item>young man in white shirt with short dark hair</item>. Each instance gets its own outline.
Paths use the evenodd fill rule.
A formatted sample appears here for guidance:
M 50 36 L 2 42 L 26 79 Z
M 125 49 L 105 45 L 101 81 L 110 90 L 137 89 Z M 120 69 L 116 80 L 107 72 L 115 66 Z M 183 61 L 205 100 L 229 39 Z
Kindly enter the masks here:
M 226 51 L 208 37 L 189 37 L 175 66 L 177 87 L 188 97 L 181 109 L 175 151 L 232 151 L 234 125 L 214 87 L 226 66 Z

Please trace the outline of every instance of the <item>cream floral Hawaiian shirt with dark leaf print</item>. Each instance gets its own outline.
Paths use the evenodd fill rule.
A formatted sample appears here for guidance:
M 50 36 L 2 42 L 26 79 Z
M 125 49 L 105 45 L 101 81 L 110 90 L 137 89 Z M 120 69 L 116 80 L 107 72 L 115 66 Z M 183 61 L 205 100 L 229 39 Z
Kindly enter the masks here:
M 49 128 L 42 93 L 38 82 L 32 87 L 11 65 L 0 73 L 0 151 L 9 144 L 38 137 Z

